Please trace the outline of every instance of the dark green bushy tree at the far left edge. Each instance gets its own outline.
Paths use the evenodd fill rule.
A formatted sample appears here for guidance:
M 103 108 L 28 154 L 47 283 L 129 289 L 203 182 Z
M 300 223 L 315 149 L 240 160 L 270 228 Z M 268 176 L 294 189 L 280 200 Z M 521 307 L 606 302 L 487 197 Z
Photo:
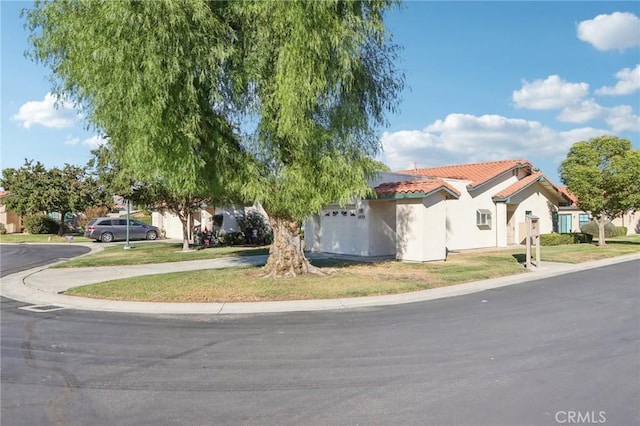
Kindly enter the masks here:
M 9 191 L 4 199 L 7 208 L 20 215 L 59 213 L 64 221 L 67 213 L 84 211 L 103 205 L 104 193 L 85 167 L 65 164 L 47 169 L 40 162 L 25 160 L 19 169 L 2 171 L 0 186 Z M 60 235 L 64 227 L 60 226 Z

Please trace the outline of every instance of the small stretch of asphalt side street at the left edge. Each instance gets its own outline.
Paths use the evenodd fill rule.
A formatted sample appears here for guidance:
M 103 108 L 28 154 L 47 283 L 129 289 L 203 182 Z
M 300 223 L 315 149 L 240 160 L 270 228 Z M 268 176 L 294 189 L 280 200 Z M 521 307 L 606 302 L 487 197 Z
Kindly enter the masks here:
M 0 244 L 0 277 L 88 253 L 88 247 L 65 244 Z

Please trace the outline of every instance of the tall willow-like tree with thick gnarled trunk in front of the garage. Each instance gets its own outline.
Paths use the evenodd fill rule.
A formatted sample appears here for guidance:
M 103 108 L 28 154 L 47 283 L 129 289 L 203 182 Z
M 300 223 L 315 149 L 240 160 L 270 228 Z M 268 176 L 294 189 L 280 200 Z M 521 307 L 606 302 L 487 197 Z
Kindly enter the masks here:
M 369 193 L 376 130 L 396 107 L 402 77 L 384 25 L 390 1 L 238 2 L 234 52 L 257 118 L 262 166 L 254 190 L 271 220 L 266 275 L 314 271 L 301 222 L 331 202 Z

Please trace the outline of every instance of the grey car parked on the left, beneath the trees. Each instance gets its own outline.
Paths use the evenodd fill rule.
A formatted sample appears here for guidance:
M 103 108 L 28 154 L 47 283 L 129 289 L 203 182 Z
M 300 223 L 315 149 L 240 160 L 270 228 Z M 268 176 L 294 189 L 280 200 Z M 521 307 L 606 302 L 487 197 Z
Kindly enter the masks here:
M 99 217 L 87 224 L 84 236 L 96 241 L 110 243 L 127 238 L 127 219 L 116 217 Z M 136 219 L 129 219 L 130 240 L 155 240 L 160 236 L 160 230 Z

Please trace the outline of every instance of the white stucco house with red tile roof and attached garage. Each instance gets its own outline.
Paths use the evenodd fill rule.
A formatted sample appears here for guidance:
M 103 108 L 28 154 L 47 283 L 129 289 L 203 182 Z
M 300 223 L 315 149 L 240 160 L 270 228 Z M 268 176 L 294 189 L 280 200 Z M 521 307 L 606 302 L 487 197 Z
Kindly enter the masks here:
M 328 205 L 305 222 L 314 252 L 443 260 L 447 252 L 521 244 L 527 217 L 554 230 L 567 199 L 527 160 L 379 173 L 377 197 Z

